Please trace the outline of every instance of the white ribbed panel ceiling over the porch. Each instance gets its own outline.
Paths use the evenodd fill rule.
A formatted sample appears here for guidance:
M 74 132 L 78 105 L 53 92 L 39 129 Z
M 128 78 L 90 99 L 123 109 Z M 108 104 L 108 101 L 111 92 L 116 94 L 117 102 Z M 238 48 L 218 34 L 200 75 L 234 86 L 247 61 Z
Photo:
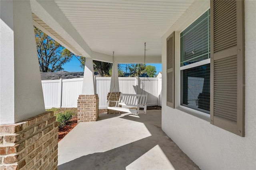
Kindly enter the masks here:
M 55 0 L 92 51 L 120 57 L 161 56 L 161 37 L 194 0 Z

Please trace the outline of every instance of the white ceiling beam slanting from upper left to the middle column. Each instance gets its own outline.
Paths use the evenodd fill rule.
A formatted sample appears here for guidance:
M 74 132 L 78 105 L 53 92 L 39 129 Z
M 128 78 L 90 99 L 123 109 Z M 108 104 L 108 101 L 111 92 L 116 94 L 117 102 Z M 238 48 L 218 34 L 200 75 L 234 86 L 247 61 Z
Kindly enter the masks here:
M 58 33 L 58 35 L 72 45 L 83 57 L 98 61 L 112 62 L 112 56 L 94 52 L 90 49 L 54 1 L 30 0 L 30 3 L 32 13 L 38 16 L 38 18 L 44 21 L 44 23 Z M 35 26 L 40 27 L 39 25 Z M 45 31 L 45 29 L 42 31 Z M 48 31 L 45 31 L 45 33 L 49 34 Z M 49 36 L 53 35 L 50 34 Z M 54 37 L 54 40 L 58 40 L 58 38 Z M 65 48 L 70 49 L 66 44 L 61 43 L 61 41 L 59 43 L 64 45 Z

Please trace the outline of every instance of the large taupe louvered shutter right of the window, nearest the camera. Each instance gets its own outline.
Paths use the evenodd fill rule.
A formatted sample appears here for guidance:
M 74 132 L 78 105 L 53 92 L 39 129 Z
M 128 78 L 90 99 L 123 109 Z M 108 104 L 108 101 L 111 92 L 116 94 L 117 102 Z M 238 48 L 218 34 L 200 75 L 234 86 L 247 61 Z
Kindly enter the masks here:
M 244 137 L 244 1 L 210 1 L 211 124 Z

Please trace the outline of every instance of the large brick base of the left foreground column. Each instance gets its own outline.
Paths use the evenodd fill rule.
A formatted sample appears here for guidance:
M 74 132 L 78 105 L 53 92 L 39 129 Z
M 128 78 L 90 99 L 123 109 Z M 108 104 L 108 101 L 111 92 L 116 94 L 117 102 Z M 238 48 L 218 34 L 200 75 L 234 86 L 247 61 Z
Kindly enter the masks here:
M 52 111 L 0 125 L 0 169 L 57 170 L 58 123 Z

